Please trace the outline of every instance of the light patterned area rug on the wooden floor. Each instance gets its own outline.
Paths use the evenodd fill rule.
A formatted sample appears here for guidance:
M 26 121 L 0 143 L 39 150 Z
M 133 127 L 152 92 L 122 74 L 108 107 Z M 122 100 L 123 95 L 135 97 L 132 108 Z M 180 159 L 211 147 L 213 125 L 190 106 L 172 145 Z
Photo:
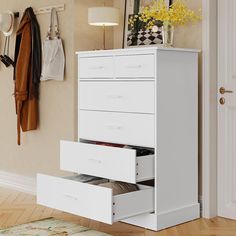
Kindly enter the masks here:
M 28 224 L 0 229 L 0 235 L 7 236 L 111 236 L 75 223 L 54 218 L 34 221 Z

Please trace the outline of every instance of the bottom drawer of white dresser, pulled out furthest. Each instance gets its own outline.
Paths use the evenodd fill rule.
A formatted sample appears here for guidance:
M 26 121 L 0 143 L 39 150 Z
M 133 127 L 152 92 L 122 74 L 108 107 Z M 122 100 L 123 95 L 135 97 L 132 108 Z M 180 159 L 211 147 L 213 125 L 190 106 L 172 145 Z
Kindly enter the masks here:
M 112 224 L 131 216 L 153 212 L 154 189 L 112 195 L 112 189 L 66 178 L 37 175 L 37 203 Z

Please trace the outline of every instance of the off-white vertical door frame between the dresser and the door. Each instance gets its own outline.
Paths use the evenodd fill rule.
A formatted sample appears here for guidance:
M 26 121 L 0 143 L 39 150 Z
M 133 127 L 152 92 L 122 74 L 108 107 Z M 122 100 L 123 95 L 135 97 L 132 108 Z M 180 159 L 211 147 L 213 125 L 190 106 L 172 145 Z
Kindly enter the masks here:
M 217 216 L 217 0 L 202 0 L 202 216 Z

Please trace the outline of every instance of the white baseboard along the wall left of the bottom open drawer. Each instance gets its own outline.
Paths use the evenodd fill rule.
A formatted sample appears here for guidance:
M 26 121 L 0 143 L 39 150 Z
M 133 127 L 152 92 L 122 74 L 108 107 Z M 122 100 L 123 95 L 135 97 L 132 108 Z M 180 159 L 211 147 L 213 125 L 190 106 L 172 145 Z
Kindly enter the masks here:
M 0 171 L 0 186 L 36 195 L 36 179 Z

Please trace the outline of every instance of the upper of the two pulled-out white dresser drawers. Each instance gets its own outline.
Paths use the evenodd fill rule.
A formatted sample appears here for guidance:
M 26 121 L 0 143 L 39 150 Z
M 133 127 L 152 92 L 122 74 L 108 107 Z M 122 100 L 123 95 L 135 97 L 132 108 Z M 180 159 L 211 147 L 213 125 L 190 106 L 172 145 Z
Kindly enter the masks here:
M 154 178 L 154 155 L 136 150 L 61 141 L 60 168 L 80 174 L 137 183 Z

